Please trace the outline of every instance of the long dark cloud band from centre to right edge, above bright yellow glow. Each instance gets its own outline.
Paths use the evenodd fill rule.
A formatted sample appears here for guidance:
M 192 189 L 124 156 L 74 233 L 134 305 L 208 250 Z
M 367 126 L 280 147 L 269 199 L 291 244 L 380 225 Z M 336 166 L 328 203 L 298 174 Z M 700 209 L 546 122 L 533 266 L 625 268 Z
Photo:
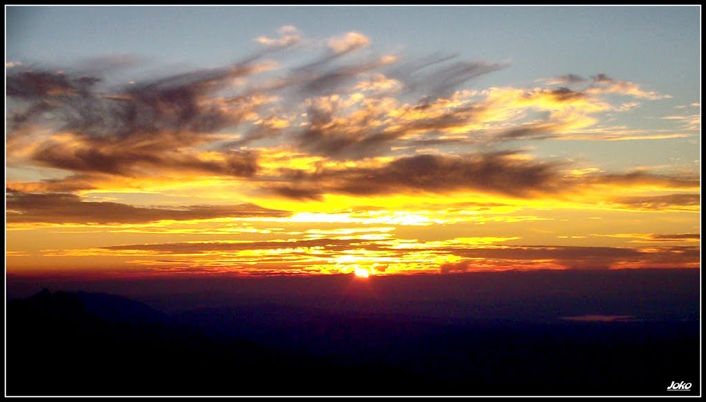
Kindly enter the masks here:
M 654 175 L 649 172 L 568 175 L 565 164 L 526 158 L 518 151 L 469 153 L 465 155 L 421 154 L 402 156 L 382 165 L 358 167 L 318 167 L 315 171 L 280 170 L 280 180 L 268 184 L 266 191 L 292 199 L 321 200 L 324 194 L 381 196 L 389 194 L 450 194 L 474 191 L 516 198 L 555 196 L 564 198 L 576 191 L 598 191 L 602 186 L 623 189 L 692 189 L 696 177 Z M 283 185 L 285 180 L 288 184 Z M 647 208 L 650 202 L 698 203 L 698 196 L 676 195 L 671 198 L 628 198 L 615 203 Z M 642 203 L 642 205 L 640 204 Z

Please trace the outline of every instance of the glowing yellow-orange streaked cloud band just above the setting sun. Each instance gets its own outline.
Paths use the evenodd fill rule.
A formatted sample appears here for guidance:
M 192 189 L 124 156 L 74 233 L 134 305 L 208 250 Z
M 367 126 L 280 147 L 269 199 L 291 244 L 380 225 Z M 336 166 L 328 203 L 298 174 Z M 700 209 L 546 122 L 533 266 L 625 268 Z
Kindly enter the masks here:
M 510 238 L 511 239 L 511 238 Z M 508 240 L 510 240 L 508 239 Z M 399 247 L 400 245 L 404 247 Z M 191 266 L 273 268 L 275 264 L 340 272 L 356 266 L 404 272 L 436 268 L 441 273 L 507 269 L 674 268 L 700 264 L 700 247 L 570 247 L 463 242 L 414 243 L 396 240 L 318 237 L 313 239 L 119 244 L 84 250 L 44 250 L 52 256 L 184 256 Z M 438 264 L 439 260 L 445 260 Z M 145 260 L 145 264 L 157 261 Z M 380 268 L 380 269 L 378 269 Z

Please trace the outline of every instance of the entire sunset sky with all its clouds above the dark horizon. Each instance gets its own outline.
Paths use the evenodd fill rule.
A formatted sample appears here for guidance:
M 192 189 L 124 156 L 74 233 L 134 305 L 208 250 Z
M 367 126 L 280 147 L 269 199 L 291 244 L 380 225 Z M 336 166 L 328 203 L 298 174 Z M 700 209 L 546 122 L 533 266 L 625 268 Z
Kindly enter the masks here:
M 700 6 L 6 6 L 6 274 L 700 267 Z

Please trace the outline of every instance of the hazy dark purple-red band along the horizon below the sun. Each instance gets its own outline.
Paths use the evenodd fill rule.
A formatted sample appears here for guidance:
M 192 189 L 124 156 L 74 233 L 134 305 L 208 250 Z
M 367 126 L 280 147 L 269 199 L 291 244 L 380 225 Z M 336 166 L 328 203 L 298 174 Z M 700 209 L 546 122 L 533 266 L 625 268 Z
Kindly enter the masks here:
M 172 313 L 204 306 L 275 303 L 332 311 L 373 308 L 377 312 L 447 318 L 458 314 L 460 308 L 463 317 L 481 320 L 504 317 L 532 321 L 626 314 L 647 314 L 650 319 L 681 314 L 698 320 L 699 278 L 700 270 L 695 268 L 476 271 L 369 278 L 359 278 L 354 273 L 110 279 L 9 276 L 6 300 L 30 297 L 47 289 L 119 295 Z M 669 283 L 669 288 L 665 288 L 665 283 Z M 492 307 L 498 302 L 506 307 Z

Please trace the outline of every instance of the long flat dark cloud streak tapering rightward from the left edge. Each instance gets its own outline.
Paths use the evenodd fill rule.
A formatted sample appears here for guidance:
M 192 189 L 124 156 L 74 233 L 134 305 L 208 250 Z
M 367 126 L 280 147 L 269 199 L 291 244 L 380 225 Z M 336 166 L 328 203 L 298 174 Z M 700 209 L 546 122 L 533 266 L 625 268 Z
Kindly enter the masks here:
M 81 201 L 75 194 L 34 194 L 8 191 L 7 223 L 150 223 L 159 220 L 193 220 L 257 216 L 289 216 L 286 211 L 251 203 L 225 206 L 192 205 L 179 208 L 140 207 L 124 203 Z

